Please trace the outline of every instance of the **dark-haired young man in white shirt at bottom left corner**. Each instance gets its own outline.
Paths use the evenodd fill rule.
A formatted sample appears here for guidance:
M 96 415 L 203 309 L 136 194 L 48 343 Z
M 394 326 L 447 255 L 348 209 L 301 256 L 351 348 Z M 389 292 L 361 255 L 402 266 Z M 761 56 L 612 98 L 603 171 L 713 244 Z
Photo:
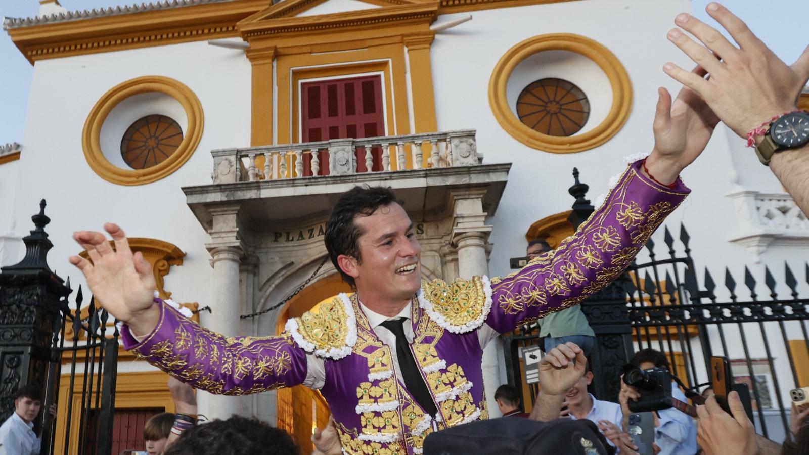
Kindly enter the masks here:
M 15 393 L 14 413 L 0 426 L 0 455 L 37 455 L 40 439 L 34 432 L 33 420 L 42 408 L 42 390 L 33 385 Z

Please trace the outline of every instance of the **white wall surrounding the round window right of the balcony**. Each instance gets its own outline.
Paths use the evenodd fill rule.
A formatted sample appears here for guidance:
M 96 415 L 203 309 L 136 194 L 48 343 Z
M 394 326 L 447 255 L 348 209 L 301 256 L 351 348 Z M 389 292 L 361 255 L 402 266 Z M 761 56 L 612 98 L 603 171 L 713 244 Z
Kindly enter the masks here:
M 560 2 L 475 11 L 471 22 L 436 36 L 431 57 L 438 130 L 477 129 L 478 151 L 485 155 L 485 163 L 514 164 L 498 212 L 491 219 L 492 274 L 506 274 L 508 258 L 524 253 L 525 232 L 533 222 L 570 208 L 573 198 L 567 189 L 573 183 L 572 168 L 578 167 L 582 181 L 591 187 L 588 196 L 595 201 L 606 191 L 610 177 L 624 168 L 624 156 L 651 150 L 657 88 L 667 87 L 675 95 L 679 90 L 676 81 L 663 73 L 663 63 L 693 65 L 666 38 L 674 17 L 682 11 L 691 11 L 688 0 Z M 460 16 L 446 15 L 439 21 Z M 489 78 L 499 58 L 522 40 L 555 32 L 576 33 L 605 45 L 632 81 L 629 121 L 614 138 L 590 151 L 553 154 L 527 147 L 502 129 L 489 106 Z M 571 65 L 570 70 L 574 74 L 577 68 Z M 755 261 L 748 249 L 725 241 L 736 215 L 724 194 L 731 189 L 734 167 L 741 169 L 743 184 L 751 188 L 776 191 L 778 185 L 750 149 L 737 150 L 739 144 L 743 145 L 741 139 L 728 138 L 723 129 L 714 135 L 700 159 L 683 172 L 693 195 L 667 221 L 677 232 L 679 223 L 685 223 L 700 268 L 722 270 L 730 265 L 741 270 L 741 265 Z M 762 262 L 782 270 L 785 259 L 800 266 L 807 252 L 809 246 L 782 249 L 763 255 Z

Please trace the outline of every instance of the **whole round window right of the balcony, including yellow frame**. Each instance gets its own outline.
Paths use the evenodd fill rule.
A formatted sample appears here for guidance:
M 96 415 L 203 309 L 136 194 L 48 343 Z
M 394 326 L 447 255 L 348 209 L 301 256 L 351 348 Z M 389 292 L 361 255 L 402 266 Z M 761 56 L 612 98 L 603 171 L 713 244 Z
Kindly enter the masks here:
M 559 74 L 570 74 L 572 82 L 558 79 Z M 489 80 L 489 104 L 503 130 L 519 142 L 574 153 L 599 147 L 621 130 L 632 108 L 632 84 L 604 45 L 551 33 L 506 51 Z

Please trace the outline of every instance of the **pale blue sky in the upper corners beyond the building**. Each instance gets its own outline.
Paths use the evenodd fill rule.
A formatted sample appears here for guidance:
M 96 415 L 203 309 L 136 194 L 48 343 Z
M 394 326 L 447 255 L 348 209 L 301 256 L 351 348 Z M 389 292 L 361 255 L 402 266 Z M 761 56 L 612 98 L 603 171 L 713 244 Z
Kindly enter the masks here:
M 70 11 L 133 3 L 133 0 L 61 0 L 61 5 Z M 692 3 L 694 14 L 699 19 L 718 27 L 705 13 L 709 0 L 692 0 Z M 807 0 L 724 0 L 722 3 L 747 22 L 752 31 L 788 63 L 794 62 L 809 45 Z M 0 17 L 34 16 L 39 7 L 37 0 L 0 0 Z M 671 19 L 673 26 L 674 18 Z M 6 32 L 0 31 L 0 145 L 23 143 L 32 72 L 33 66 L 19 53 Z

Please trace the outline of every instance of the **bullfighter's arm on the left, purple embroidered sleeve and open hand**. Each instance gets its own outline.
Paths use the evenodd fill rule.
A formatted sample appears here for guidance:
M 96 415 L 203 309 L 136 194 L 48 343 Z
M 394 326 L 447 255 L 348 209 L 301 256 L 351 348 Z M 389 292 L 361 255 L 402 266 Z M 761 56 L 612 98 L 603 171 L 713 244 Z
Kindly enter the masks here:
M 155 276 L 116 224 L 104 224 L 115 249 L 100 232 L 75 232 L 89 260 L 70 257 L 95 300 L 120 321 L 124 348 L 180 381 L 210 393 L 240 395 L 299 385 L 307 375 L 306 353 L 288 333 L 228 338 L 207 330 L 153 298 Z M 136 338 L 137 337 L 137 338 Z

